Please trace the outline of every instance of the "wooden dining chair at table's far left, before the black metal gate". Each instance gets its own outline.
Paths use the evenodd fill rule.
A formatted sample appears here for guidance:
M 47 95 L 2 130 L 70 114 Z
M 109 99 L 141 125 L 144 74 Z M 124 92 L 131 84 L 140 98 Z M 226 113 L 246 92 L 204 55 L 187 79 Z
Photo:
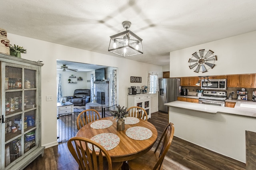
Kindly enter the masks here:
M 76 119 L 77 130 L 80 130 L 84 125 L 100 119 L 100 114 L 94 109 L 87 109 L 79 113 Z

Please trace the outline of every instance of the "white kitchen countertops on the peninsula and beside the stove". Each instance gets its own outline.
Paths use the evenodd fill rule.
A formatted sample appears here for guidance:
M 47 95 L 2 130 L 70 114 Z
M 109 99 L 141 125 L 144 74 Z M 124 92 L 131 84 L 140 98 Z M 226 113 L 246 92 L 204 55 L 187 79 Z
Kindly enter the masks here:
M 184 96 L 180 96 L 180 97 L 184 97 Z M 192 96 L 185 96 L 185 97 L 192 98 Z M 194 97 L 197 97 L 197 96 L 194 96 Z M 256 118 L 256 102 L 238 101 L 234 99 L 228 99 L 226 101 L 236 102 L 235 107 L 234 108 L 221 107 L 221 106 L 214 106 L 214 105 L 204 105 L 199 103 L 190 103 L 190 102 L 184 102 L 184 101 L 173 101 L 170 103 L 166 103 L 164 105 L 170 106 L 170 107 L 200 111 L 200 112 L 210 113 L 210 114 L 225 113 L 230 115 Z M 241 106 L 244 106 L 244 107 L 241 107 Z M 252 108 L 252 107 L 255 107 L 255 108 Z

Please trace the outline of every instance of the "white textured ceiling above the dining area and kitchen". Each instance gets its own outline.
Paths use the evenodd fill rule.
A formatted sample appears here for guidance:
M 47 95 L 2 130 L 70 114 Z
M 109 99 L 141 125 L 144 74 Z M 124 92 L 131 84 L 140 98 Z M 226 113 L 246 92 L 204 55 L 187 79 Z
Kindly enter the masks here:
M 5 0 L 0 28 L 98 53 L 122 22 L 143 39 L 144 54 L 128 59 L 168 65 L 170 51 L 256 30 L 256 0 Z

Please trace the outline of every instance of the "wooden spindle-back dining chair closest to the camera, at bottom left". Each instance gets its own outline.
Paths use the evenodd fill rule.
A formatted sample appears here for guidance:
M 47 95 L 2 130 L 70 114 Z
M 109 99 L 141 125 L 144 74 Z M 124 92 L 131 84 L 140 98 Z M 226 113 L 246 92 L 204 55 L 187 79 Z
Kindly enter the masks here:
M 99 151 L 96 152 L 95 149 L 98 148 Z M 121 170 L 123 162 L 112 162 L 108 151 L 99 143 L 88 138 L 70 138 L 68 149 L 78 163 L 79 170 Z

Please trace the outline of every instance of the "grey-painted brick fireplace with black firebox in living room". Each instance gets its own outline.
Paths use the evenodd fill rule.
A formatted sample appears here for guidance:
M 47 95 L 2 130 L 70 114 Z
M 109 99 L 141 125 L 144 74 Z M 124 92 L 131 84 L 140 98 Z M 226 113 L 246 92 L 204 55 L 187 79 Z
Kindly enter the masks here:
M 109 81 L 94 81 L 94 84 L 95 84 L 95 95 L 97 95 L 97 103 L 105 105 L 105 107 L 108 107 L 108 105 L 109 105 L 109 102 L 108 102 L 109 101 L 109 93 L 108 93 Z

